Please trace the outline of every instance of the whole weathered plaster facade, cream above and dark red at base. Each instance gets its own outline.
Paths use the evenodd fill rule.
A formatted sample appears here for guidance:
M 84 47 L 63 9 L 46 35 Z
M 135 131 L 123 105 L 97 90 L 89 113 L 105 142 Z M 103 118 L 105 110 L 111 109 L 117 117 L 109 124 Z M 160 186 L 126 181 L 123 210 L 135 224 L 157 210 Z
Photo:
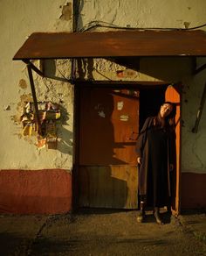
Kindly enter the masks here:
M 72 175 L 65 172 L 72 169 L 73 157 L 73 88 L 71 84 L 65 82 L 71 74 L 71 63 L 69 60 L 46 61 L 46 74 L 52 78 L 56 77 L 55 79 L 42 79 L 34 74 L 38 100 L 60 103 L 63 109 L 62 123 L 58 126 L 58 149 L 39 150 L 35 136 L 22 136 L 19 117 L 23 102 L 31 99 L 31 89 L 24 63 L 12 61 L 12 57 L 32 32 L 71 32 L 72 3 L 79 4 L 78 28 L 83 28 L 83 31 L 89 28 L 94 20 L 101 22 L 102 25 L 139 28 L 187 28 L 205 23 L 205 0 L 0 1 L 0 170 L 3 170 L 0 175 L 0 208 L 2 212 L 59 213 L 71 210 Z M 98 28 L 100 31 L 110 29 Z M 203 63 L 205 60 L 198 60 L 198 65 Z M 120 63 L 115 64 L 113 60 L 82 60 L 78 64 L 79 75 L 87 79 L 182 81 L 182 172 L 186 174 L 182 197 L 184 200 L 187 199 L 187 202 L 184 202 L 186 206 L 191 207 L 191 202 L 195 206 L 196 202 L 201 202 L 201 206 L 205 205 L 202 196 L 205 175 L 198 176 L 206 174 L 205 108 L 198 133 L 194 134 L 191 130 L 195 124 L 206 71 L 196 77 L 191 75 L 192 63 L 188 58 L 141 59 L 140 66 L 138 63 L 133 63 L 132 68 L 122 66 Z M 35 65 L 39 65 L 38 61 L 35 61 Z M 123 74 L 123 77 L 118 74 Z M 24 169 L 32 171 L 27 172 Z M 192 178 L 187 174 L 189 172 L 195 173 L 192 174 Z M 200 181 L 201 186 L 199 186 Z M 190 193 L 189 197 L 188 187 L 191 191 L 194 188 L 196 194 Z M 200 199 L 197 200 L 198 198 Z

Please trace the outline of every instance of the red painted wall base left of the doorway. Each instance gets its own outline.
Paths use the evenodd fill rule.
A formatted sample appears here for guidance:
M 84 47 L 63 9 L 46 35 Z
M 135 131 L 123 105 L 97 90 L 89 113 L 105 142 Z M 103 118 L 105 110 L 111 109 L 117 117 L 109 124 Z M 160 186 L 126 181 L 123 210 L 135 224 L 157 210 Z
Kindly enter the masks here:
M 71 209 L 72 175 L 68 171 L 0 171 L 0 213 L 58 214 Z

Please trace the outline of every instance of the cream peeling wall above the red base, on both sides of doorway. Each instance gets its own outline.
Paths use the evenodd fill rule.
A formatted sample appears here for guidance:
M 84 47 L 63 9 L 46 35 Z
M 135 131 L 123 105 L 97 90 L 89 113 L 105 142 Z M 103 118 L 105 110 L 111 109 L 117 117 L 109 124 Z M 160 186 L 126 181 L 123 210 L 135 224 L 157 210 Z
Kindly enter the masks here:
M 72 0 L 0 1 L 0 169 L 72 168 L 72 86 L 66 82 L 42 79 L 35 75 L 38 99 L 44 100 L 45 96 L 57 102 L 61 99 L 68 113 L 66 124 L 58 130 L 59 138 L 62 138 L 58 150 L 38 150 L 35 146 L 36 137 L 24 138 L 21 135 L 21 124 L 18 122 L 21 102 L 30 96 L 31 89 L 25 65 L 21 61 L 12 60 L 17 49 L 32 32 L 71 31 L 72 21 L 68 14 L 70 11 L 69 8 L 64 9 L 65 4 L 69 2 Z M 75 3 L 77 2 L 75 0 Z M 139 28 L 185 28 L 203 25 L 205 13 L 205 0 L 79 0 L 78 27 L 82 28 L 89 22 L 98 20 L 118 26 Z M 206 27 L 202 29 L 206 30 Z M 182 171 L 206 173 L 205 108 L 198 133 L 191 132 L 206 80 L 206 71 L 196 77 L 192 76 L 191 63 L 188 59 L 183 62 L 178 60 L 176 67 L 176 60 L 172 60 L 172 63 L 170 60 L 159 60 L 159 63 L 149 60 L 155 63 L 154 77 L 148 75 L 148 67 L 151 65 L 148 65 L 147 61 L 141 60 L 141 70 L 148 72 L 140 72 L 130 80 L 161 80 L 162 74 L 164 79 L 168 78 L 171 82 L 182 80 Z M 205 63 L 206 60 L 198 61 Z M 117 68 L 122 68 L 103 60 L 94 61 L 91 65 L 110 78 L 115 76 Z M 55 75 L 70 75 L 68 60 L 58 60 L 57 67 Z M 93 77 L 105 79 L 95 70 Z M 22 80 L 26 83 L 25 89 L 20 87 L 19 82 Z

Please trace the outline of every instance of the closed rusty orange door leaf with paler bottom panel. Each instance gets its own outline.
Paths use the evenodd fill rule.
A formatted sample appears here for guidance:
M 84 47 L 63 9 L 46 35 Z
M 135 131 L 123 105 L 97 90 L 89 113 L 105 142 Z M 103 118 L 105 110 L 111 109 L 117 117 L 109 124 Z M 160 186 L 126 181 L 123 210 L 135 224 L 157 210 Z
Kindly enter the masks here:
M 137 208 L 139 91 L 82 88 L 79 103 L 79 206 Z

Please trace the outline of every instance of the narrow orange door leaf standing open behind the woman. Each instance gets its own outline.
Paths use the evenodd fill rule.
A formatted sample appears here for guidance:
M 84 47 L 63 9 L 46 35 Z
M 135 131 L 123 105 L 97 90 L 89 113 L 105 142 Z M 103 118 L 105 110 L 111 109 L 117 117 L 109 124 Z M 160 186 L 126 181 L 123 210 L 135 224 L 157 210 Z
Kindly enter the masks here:
M 180 212 L 180 139 L 181 139 L 181 84 L 170 85 L 165 92 L 165 101 L 175 103 L 175 144 L 176 144 L 176 167 L 172 173 L 172 210 L 173 214 L 177 215 Z

